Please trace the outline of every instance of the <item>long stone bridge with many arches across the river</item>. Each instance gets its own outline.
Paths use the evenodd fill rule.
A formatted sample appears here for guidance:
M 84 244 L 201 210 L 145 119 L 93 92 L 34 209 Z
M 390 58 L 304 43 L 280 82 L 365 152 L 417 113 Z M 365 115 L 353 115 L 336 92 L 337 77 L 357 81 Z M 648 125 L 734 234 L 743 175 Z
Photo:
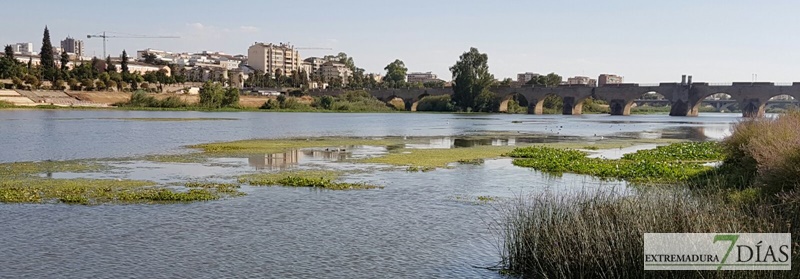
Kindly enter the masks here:
M 528 113 L 542 114 L 544 99 L 547 96 L 558 96 L 563 100 L 565 115 L 579 115 L 583 112 L 583 103 L 587 98 L 605 100 L 608 102 L 611 115 L 630 115 L 634 102 L 648 93 L 658 93 L 669 101 L 671 116 L 697 116 L 703 100 L 717 93 L 731 96 L 731 100 L 738 102 L 745 117 L 759 117 L 764 115 L 767 101 L 779 95 L 789 95 L 800 100 L 800 82 L 786 85 L 776 85 L 772 82 L 734 82 L 730 84 L 692 83 L 659 83 L 644 84 L 607 84 L 602 87 L 585 85 L 562 85 L 556 87 L 531 86 L 531 87 L 493 87 L 491 92 L 500 98 L 498 111 L 508 111 L 508 101 L 512 98 L 519 100 L 520 104 L 527 104 Z M 439 96 L 453 94 L 452 88 L 427 88 L 427 89 L 376 89 L 369 91 L 379 100 L 389 102 L 396 98 L 405 102 L 406 109 L 416 111 L 420 99 L 426 96 Z M 312 96 L 337 96 L 343 90 L 318 90 L 310 91 Z

